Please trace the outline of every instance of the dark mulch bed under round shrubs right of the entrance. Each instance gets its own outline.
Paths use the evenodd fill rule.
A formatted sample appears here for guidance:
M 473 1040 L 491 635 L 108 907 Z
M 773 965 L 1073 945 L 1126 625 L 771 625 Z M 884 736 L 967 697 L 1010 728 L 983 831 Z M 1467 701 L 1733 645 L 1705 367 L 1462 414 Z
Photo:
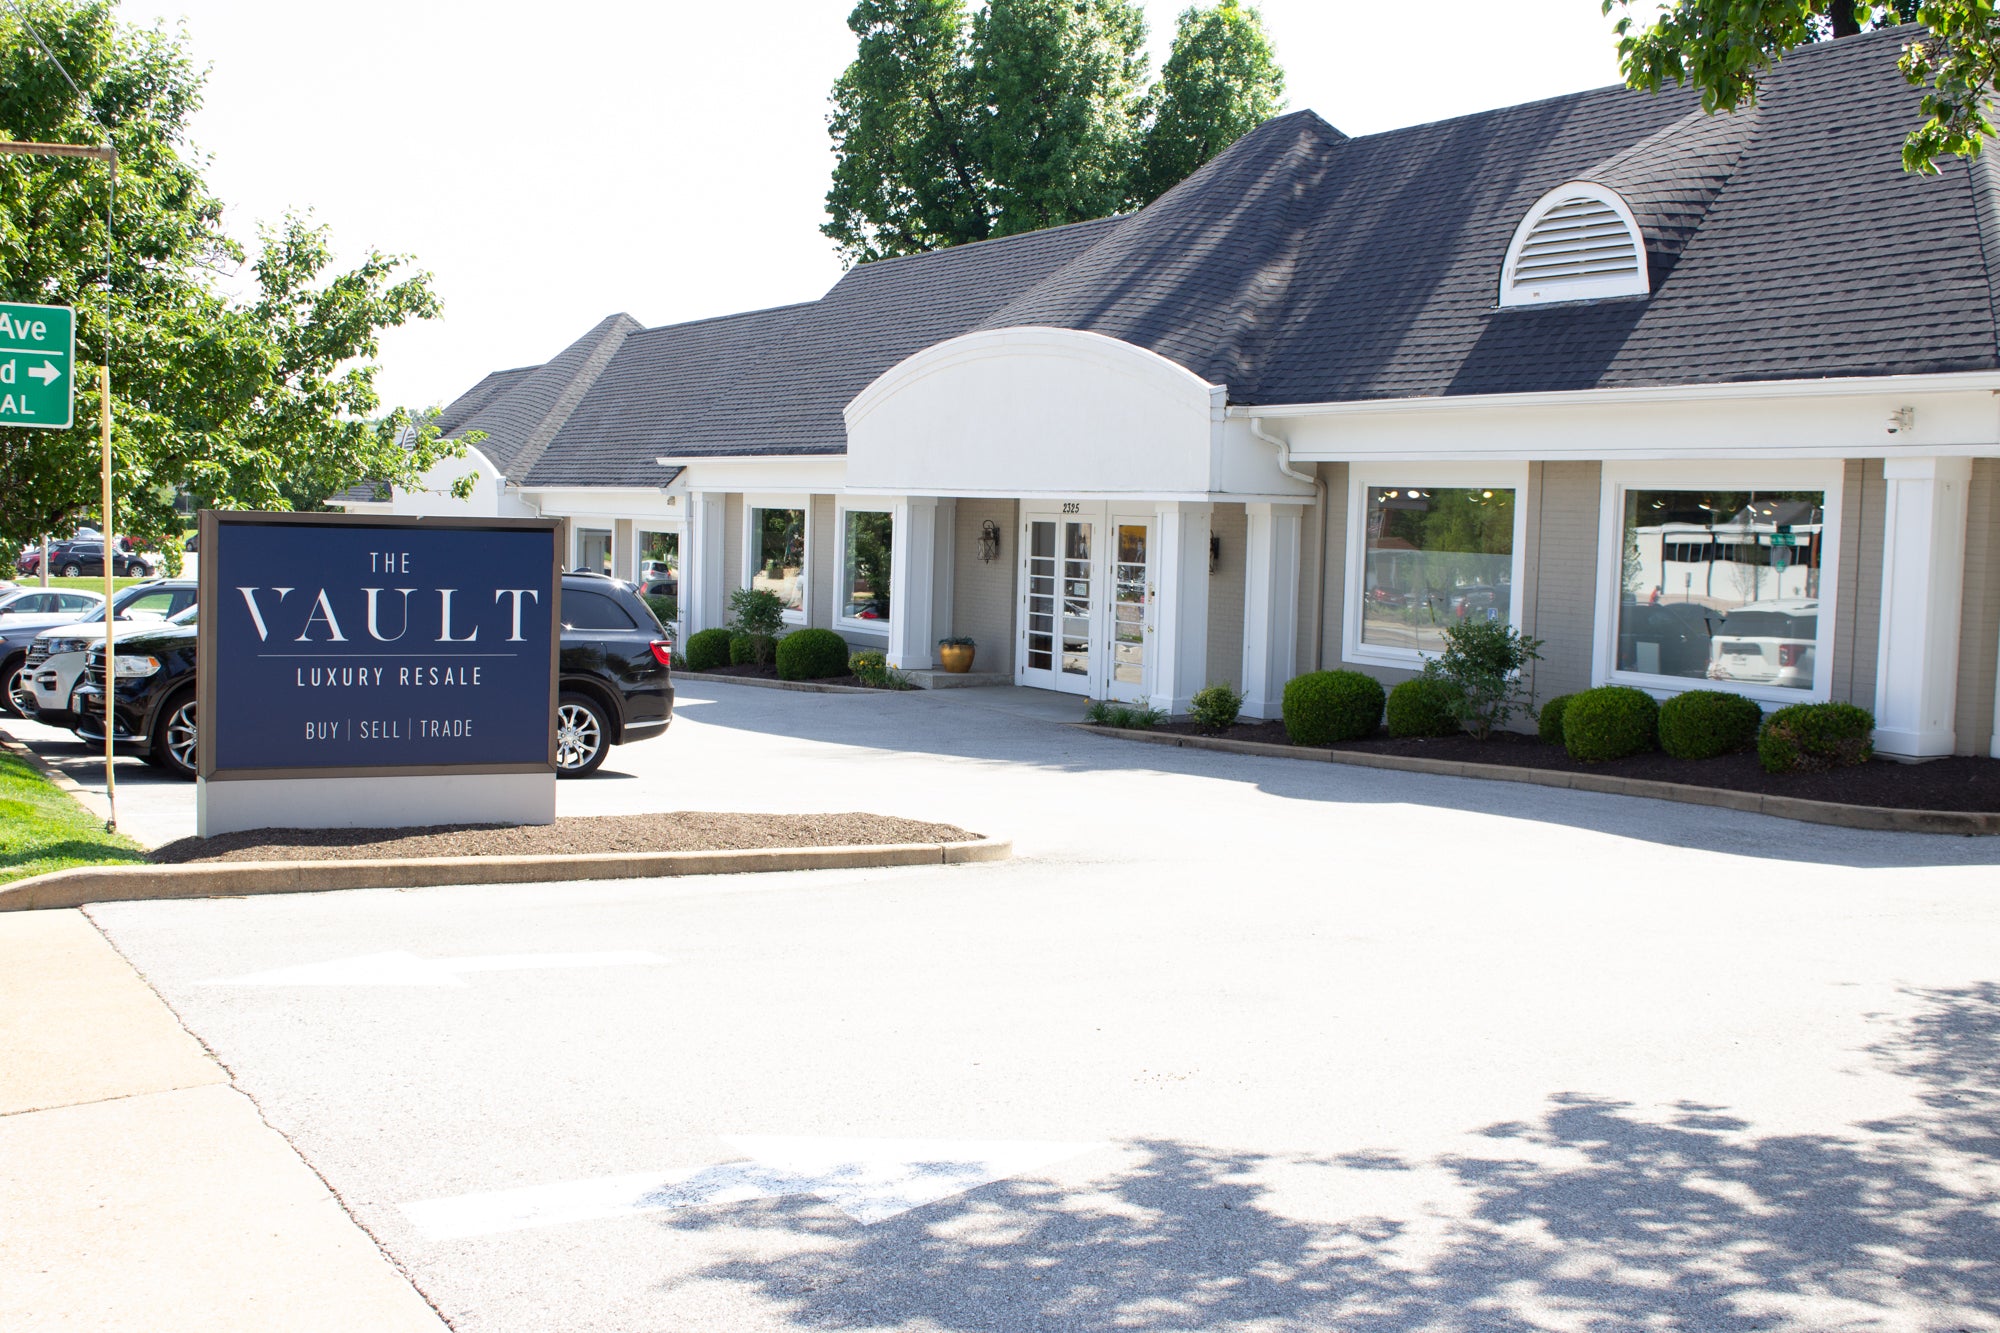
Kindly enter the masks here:
M 1156 731 L 1186 737 L 1222 737 L 1226 741 L 1260 741 L 1290 745 L 1284 723 L 1236 723 L 1228 731 L 1202 731 L 1188 719 L 1162 723 Z M 1764 773 L 1756 753 L 1722 755 L 1718 759 L 1672 759 L 1654 751 L 1602 765 L 1584 765 L 1568 757 L 1560 745 L 1542 745 L 1536 737 L 1496 733 L 1490 741 L 1472 737 L 1392 739 L 1386 733 L 1368 741 L 1348 741 L 1326 747 L 1362 751 L 1368 755 L 1402 755 L 1408 759 L 1446 759 L 1472 765 L 1512 765 L 1516 769 L 1554 769 L 1560 773 L 1606 773 L 1612 777 L 1646 779 L 1650 783 L 1686 783 L 1720 787 L 1724 791 L 1754 791 L 1768 797 L 1800 797 L 1804 801 L 1840 801 L 1844 805 L 1878 805 L 1896 811 L 2000 811 L 2000 759 L 1956 755 L 1920 765 L 1886 759 L 1834 769 L 1830 773 Z

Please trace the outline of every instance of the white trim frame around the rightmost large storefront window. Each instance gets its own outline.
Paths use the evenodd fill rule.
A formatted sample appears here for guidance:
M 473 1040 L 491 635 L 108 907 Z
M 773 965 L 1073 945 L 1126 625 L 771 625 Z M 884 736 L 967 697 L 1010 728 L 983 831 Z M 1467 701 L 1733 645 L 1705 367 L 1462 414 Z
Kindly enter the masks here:
M 1840 474 L 1838 458 L 1756 458 L 1736 462 L 1606 462 L 1598 486 L 1598 598 L 1596 634 L 1590 650 L 1592 685 L 1634 685 L 1666 699 L 1686 691 L 1726 691 L 1758 703 L 1826 703 L 1834 693 L 1834 624 L 1852 614 L 1840 602 Z M 1814 640 L 1814 681 L 1810 691 L 1772 685 L 1660 677 L 1618 671 L 1618 604 L 1624 592 L 1624 492 L 1644 490 L 1820 490 L 1820 622 Z

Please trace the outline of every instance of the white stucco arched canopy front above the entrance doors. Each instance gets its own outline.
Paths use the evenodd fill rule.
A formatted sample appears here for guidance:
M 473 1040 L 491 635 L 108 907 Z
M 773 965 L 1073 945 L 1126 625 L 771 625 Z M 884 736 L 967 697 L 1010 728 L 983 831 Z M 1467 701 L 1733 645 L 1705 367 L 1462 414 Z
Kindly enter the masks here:
M 848 402 L 848 490 L 1200 496 L 1222 488 L 1222 408 L 1220 384 L 1104 334 L 972 332 Z

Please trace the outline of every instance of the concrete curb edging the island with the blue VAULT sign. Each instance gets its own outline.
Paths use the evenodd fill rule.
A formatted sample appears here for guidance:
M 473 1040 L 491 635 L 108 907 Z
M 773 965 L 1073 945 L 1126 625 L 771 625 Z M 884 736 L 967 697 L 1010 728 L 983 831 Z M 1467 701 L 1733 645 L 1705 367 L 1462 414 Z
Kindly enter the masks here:
M 1006 861 L 1010 839 L 966 843 L 874 843 L 858 847 L 752 847 L 742 851 L 584 853 L 560 857 L 404 857 L 390 861 L 218 861 L 210 865 L 114 865 L 52 871 L 0 889 L 0 911 L 232 899 L 256 893 L 334 889 L 434 889 L 440 885 L 538 885 L 662 875 L 750 875 L 766 871 L 868 871 L 894 865 Z

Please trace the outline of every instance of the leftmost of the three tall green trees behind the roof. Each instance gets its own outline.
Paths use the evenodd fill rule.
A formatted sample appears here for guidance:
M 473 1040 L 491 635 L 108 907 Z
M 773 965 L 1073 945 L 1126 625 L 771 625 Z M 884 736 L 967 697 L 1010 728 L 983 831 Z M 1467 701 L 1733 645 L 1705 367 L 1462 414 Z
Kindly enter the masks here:
M 838 164 L 820 228 L 848 262 L 984 240 L 964 0 L 860 0 L 826 118 Z

